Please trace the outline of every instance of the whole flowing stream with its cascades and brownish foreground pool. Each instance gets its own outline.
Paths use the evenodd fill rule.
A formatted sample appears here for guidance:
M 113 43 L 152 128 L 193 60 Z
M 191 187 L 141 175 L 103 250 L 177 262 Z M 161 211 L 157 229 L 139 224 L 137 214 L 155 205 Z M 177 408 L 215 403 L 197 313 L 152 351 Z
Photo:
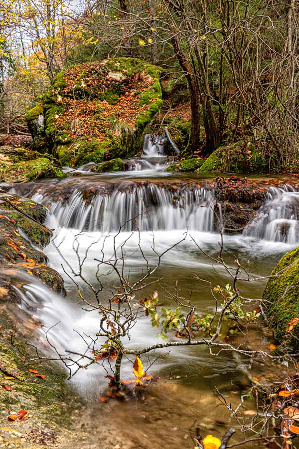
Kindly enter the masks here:
M 215 196 L 212 190 L 202 187 L 203 177 L 166 172 L 166 157 L 160 143 L 152 143 L 149 139 L 145 141 L 143 156 L 126 164 L 126 172 L 103 174 L 90 171 L 95 165 L 89 164 L 76 169 L 76 176 L 41 180 L 13 189 L 14 193 L 31 197 L 49 208 L 45 224 L 54 229 L 54 237 L 44 252 L 50 266 L 63 276 L 67 291 L 66 297 L 59 296 L 25 276 L 23 291 L 19 293 L 22 301 L 18 313 L 23 316 L 32 314 L 33 310 L 34 318 L 45 328 L 57 323 L 48 337 L 60 352 L 66 349 L 84 352 L 86 343 L 82 335 L 88 340 L 99 329 L 98 312 L 86 311 L 73 282 L 71 268 L 78 269 L 79 258 L 85 257 L 83 274 L 92 285 L 96 285 L 96 275 L 100 274 L 103 282 L 100 298 L 103 301 L 111 294 L 117 278 L 109 267 L 101 266 L 97 272 L 95 259 L 103 254 L 105 260 L 111 260 L 115 251 L 118 255 L 124 252 L 123 268 L 132 283 L 147 268 L 146 260 L 154 266 L 157 254 L 171 248 L 163 255 L 154 274 L 155 279 L 161 279 L 140 291 L 134 301 L 144 299 L 156 290 L 159 302 L 173 307 L 169 292 L 179 288 L 180 295 L 191 296 L 204 315 L 213 313 L 215 305 L 206 281 L 213 286 L 223 286 L 230 281 L 225 270 L 206 255 L 218 255 L 220 234 L 214 231 Z M 71 169 L 65 171 L 71 175 Z M 192 187 L 180 186 L 182 178 L 191 179 Z M 200 185 L 197 187 L 196 183 Z M 167 185 L 174 188 L 169 190 Z M 282 254 L 298 245 L 298 204 L 299 193 L 291 186 L 270 188 L 256 221 L 243 232 L 224 236 L 227 262 L 233 263 L 235 254 L 252 276 L 270 274 Z M 221 217 L 221 205 L 217 208 Z M 284 233 L 280 231 L 282 225 L 286 226 Z M 198 249 L 194 240 L 204 252 Z M 203 280 L 195 279 L 194 275 Z M 78 277 L 75 280 L 84 297 L 93 303 L 90 290 Z M 265 283 L 265 280 L 243 282 L 240 284 L 243 296 L 260 298 Z M 261 349 L 267 350 L 270 340 L 263 321 L 259 319 L 248 329 L 248 332 L 231 338 L 251 348 L 258 343 Z M 37 344 L 51 353 L 44 333 L 36 332 Z M 158 332 L 157 328 L 151 327 L 149 318 L 143 316 L 131 329 L 130 339 L 127 337 L 125 344 L 136 350 L 155 344 L 162 341 Z M 169 332 L 169 339 L 177 339 L 174 332 Z M 99 337 L 98 342 L 100 347 L 104 339 Z M 132 357 L 125 360 L 123 379 L 134 378 L 133 360 Z M 68 444 L 72 448 L 193 448 L 194 427 L 199 426 L 203 434 L 221 436 L 235 425 L 229 412 L 216 399 L 215 387 L 226 395 L 229 403 L 237 405 L 241 392 L 248 385 L 242 365 L 251 368 L 257 377 L 265 376 L 271 365 L 266 369 L 266 362 L 262 360 L 238 361 L 231 353 L 216 357 L 204 346 L 157 350 L 143 361 L 145 368 L 149 367 L 147 373 L 157 375 L 159 380 L 144 389 L 139 397 L 122 405 L 116 401 L 99 404 L 98 397 L 107 387 L 107 373 L 100 364 L 79 371 L 69 381 L 87 407 L 79 424 L 87 426 L 90 435 L 94 435 L 94 442 L 89 446 L 65 442 L 64 448 Z M 105 368 L 111 372 L 109 364 Z M 277 366 L 273 369 L 278 370 Z M 279 370 L 283 371 L 283 367 L 279 366 Z M 250 407 L 253 405 L 249 401 Z M 90 423 L 93 428 L 88 427 Z M 115 439 L 100 431 L 100 427 L 115 430 Z M 238 438 L 242 440 L 243 436 Z M 97 446 L 100 440 L 102 446 Z

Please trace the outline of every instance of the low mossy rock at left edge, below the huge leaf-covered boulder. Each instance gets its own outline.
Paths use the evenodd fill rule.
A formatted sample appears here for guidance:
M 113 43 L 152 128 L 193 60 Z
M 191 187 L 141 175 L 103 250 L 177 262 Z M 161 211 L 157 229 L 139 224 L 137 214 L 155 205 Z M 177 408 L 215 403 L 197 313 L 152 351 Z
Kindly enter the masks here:
M 0 170 L 0 179 L 10 183 L 27 183 L 39 178 L 64 178 L 65 176 L 52 161 L 46 158 L 18 162 Z

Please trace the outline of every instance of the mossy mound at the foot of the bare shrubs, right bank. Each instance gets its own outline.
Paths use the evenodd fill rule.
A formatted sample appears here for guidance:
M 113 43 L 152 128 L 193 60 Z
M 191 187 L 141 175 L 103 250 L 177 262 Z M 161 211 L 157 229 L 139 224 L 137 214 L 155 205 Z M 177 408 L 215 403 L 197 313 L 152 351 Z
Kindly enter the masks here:
M 242 142 L 219 147 L 200 167 L 200 173 L 268 173 L 269 158 L 263 157 L 253 145 Z

